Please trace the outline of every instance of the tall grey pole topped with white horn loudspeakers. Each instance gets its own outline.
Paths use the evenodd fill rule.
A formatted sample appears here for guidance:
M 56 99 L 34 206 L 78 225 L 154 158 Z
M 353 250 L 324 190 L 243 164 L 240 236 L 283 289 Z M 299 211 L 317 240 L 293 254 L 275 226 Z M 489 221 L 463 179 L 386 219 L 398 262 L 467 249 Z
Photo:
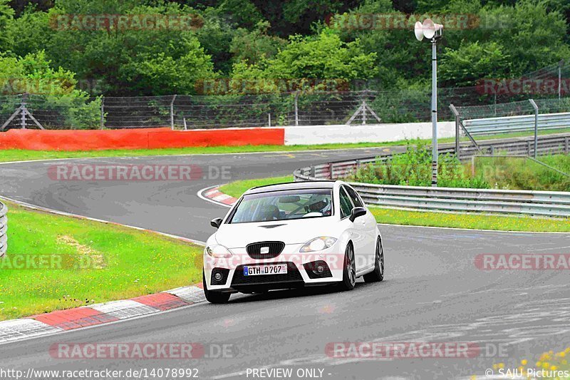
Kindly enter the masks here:
M 418 41 L 427 38 L 432 43 L 432 187 L 437 186 L 437 39 L 442 36 L 443 25 L 430 19 L 415 23 L 414 34 Z

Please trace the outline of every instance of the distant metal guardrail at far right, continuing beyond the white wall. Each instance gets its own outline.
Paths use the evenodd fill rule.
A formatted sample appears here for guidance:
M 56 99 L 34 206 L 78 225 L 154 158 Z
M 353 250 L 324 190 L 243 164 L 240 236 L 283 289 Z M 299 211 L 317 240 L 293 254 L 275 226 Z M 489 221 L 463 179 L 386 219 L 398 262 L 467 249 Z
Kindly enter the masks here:
M 524 132 L 534 130 L 534 115 L 507 116 L 463 120 L 465 129 L 471 135 Z M 570 113 L 546 113 L 538 117 L 539 130 L 570 128 Z

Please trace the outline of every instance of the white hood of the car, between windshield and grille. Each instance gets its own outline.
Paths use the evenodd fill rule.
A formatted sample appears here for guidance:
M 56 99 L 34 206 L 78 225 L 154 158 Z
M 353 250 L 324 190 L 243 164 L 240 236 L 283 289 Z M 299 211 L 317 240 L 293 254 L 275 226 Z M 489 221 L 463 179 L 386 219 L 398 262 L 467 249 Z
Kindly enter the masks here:
M 223 224 L 214 234 L 218 244 L 228 248 L 244 248 L 253 242 L 279 241 L 285 244 L 301 244 L 318 236 L 338 237 L 338 223 L 335 217 L 313 217 L 309 219 L 276 220 Z

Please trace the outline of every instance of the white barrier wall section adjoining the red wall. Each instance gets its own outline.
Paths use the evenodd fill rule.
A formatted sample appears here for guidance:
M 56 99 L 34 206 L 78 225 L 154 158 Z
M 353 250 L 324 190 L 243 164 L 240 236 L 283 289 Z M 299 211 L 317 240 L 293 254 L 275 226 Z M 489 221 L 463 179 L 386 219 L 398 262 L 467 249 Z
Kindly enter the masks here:
M 437 123 L 437 137 L 455 136 L 455 122 Z M 285 127 L 285 145 L 328 143 L 384 143 L 431 138 L 432 123 L 311 125 Z

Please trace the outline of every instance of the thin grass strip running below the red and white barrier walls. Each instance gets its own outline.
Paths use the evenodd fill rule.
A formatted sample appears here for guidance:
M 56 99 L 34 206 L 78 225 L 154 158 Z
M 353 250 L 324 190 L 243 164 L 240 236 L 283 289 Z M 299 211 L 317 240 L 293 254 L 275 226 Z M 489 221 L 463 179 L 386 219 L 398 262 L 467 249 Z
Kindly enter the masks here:
M 568 130 L 543 131 L 540 134 L 568 132 Z M 529 135 L 528 132 L 507 133 L 502 135 L 477 136 L 477 140 L 495 138 L 513 138 Z M 422 140 L 430 143 L 430 139 Z M 455 138 L 440 138 L 439 143 L 452 143 Z M 95 157 L 138 157 L 145 155 L 194 155 L 194 154 L 217 154 L 217 153 L 258 153 L 299 150 L 332 150 L 351 148 L 378 148 L 395 145 L 405 145 L 405 140 L 390 141 L 385 143 L 333 143 L 316 145 L 244 145 L 244 146 L 209 146 L 189 148 L 165 148 L 165 149 L 120 149 L 120 150 L 92 150 L 92 151 L 51 151 L 51 150 L 0 150 L 0 162 L 23 161 L 23 160 L 48 160 L 53 158 L 95 158 Z

